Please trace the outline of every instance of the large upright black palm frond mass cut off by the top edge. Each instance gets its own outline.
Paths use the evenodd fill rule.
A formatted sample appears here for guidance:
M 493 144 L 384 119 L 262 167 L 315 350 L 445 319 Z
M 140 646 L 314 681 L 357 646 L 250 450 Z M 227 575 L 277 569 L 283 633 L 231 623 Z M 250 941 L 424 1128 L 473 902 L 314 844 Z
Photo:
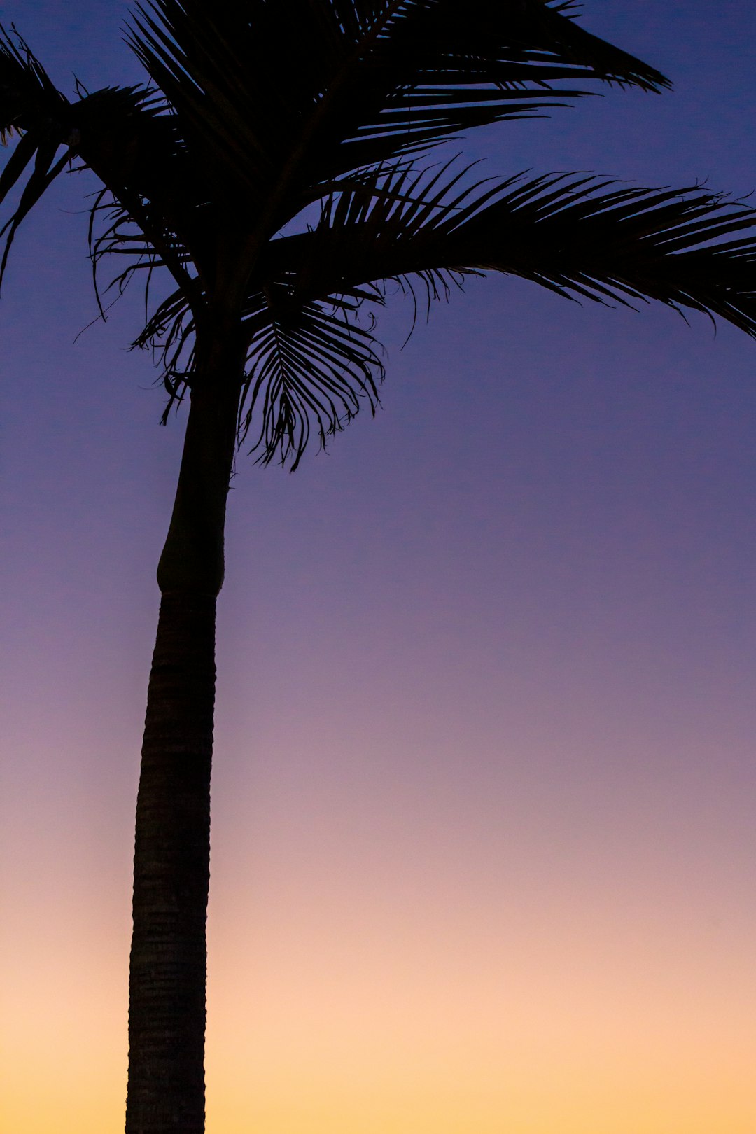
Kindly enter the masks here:
M 244 202 L 247 217 L 262 209 L 257 230 L 267 238 L 349 171 L 585 93 L 554 84 L 669 85 L 585 32 L 568 7 L 145 0 L 129 43 L 214 191 Z

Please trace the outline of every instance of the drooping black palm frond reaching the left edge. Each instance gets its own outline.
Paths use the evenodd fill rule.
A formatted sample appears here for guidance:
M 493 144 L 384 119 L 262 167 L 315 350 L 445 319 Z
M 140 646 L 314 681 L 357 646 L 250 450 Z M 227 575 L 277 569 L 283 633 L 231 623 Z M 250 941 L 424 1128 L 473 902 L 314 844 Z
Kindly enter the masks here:
M 187 256 L 203 262 L 211 243 L 207 193 L 164 100 L 139 87 L 105 87 L 69 102 L 15 32 L 0 28 L 0 130 L 14 145 L 0 175 L 0 203 L 19 188 L 0 235 L 0 278 L 19 225 L 66 169 L 92 169 L 110 195 L 121 228 L 163 262 L 187 291 Z M 109 243 L 117 251 L 118 231 Z

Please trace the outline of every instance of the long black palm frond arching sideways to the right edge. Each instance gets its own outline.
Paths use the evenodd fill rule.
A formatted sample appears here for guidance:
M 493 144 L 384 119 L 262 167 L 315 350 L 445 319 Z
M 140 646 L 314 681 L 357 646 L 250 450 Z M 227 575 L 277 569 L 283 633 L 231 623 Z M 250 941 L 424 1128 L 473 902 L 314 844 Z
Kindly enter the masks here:
M 270 245 L 301 302 L 438 270 L 500 271 L 566 296 L 656 299 L 756 335 L 756 210 L 706 192 L 550 175 L 459 189 L 379 175 L 329 198 L 312 232 Z M 748 230 L 747 235 L 739 236 Z M 334 265 L 334 266 L 331 266 Z

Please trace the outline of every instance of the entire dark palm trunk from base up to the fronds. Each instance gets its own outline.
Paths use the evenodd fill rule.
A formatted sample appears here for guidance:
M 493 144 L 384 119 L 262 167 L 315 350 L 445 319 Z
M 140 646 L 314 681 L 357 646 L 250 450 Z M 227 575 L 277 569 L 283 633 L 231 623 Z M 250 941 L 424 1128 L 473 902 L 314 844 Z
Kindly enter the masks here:
M 205 1128 L 215 602 L 240 369 L 239 353 L 220 345 L 197 367 L 158 569 L 162 599 L 134 852 L 127 1134 Z

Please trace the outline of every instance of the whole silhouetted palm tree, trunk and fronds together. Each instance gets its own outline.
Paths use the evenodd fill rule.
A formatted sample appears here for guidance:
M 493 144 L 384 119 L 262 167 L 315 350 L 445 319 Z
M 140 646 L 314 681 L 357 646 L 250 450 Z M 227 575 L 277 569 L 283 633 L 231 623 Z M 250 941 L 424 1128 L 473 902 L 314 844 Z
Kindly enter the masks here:
M 654 68 L 553 0 L 145 0 L 138 87 L 69 101 L 12 29 L 0 41 L 5 270 L 74 164 L 101 183 L 95 270 L 169 280 L 136 342 L 164 417 L 188 400 L 137 801 L 127 1132 L 204 1129 L 205 915 L 215 603 L 238 446 L 296 468 L 383 376 L 371 310 L 499 271 L 560 295 L 660 301 L 756 335 L 756 212 L 704 192 L 554 174 L 475 180 L 428 154 L 591 81 L 657 92 Z M 577 86 L 576 86 L 577 84 Z

